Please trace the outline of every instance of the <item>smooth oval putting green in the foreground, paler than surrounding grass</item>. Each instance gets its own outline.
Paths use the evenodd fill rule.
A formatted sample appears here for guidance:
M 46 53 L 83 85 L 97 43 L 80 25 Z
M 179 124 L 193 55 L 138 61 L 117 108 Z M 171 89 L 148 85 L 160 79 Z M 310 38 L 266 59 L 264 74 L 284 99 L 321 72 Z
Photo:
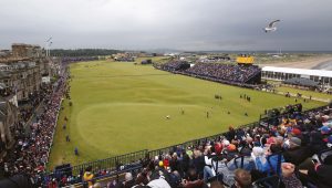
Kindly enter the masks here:
M 184 109 L 184 114 L 181 109 Z M 143 148 L 152 148 L 156 147 L 152 140 L 156 143 L 158 139 L 167 140 L 175 135 L 186 135 L 188 132 L 195 130 L 197 126 L 205 126 L 207 121 L 205 112 L 204 106 L 186 104 L 107 103 L 82 109 L 76 122 L 79 133 L 85 138 L 84 142 L 89 146 L 115 155 L 120 154 L 123 148 L 128 152 L 135 150 L 135 143 L 139 143 Z M 91 118 L 92 114 L 94 118 Z M 209 114 L 209 116 L 211 115 Z M 189 119 L 195 124 L 184 124 Z M 157 123 L 158 127 L 164 128 L 156 129 L 156 125 L 153 123 Z M 174 124 L 181 128 L 168 132 Z M 143 126 L 143 133 L 136 130 L 138 125 Z M 206 128 L 210 128 L 210 126 L 206 126 Z M 97 132 L 92 132 L 92 129 Z M 95 139 L 96 137 L 112 137 L 112 139 L 104 142 Z

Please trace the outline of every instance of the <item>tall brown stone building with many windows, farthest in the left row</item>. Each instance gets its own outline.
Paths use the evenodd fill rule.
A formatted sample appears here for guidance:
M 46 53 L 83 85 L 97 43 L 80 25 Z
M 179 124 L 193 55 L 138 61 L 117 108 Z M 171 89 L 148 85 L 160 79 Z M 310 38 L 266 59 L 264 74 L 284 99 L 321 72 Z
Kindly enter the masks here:
M 13 94 L 15 98 L 25 101 L 29 94 L 38 93 L 42 77 L 50 76 L 51 60 L 39 45 L 12 44 L 12 51 L 0 56 L 0 93 Z

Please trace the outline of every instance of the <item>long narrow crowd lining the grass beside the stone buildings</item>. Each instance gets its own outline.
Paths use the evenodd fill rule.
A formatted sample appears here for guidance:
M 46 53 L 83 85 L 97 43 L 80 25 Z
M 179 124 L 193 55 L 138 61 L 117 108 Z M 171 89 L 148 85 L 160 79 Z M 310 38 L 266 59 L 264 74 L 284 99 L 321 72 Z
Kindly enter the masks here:
M 2 158 L 4 177 L 18 174 L 28 175 L 34 184 L 41 180 L 41 174 L 45 169 L 52 146 L 54 127 L 58 121 L 58 113 L 63 93 L 66 88 L 66 77 L 61 76 L 56 81 L 56 87 L 45 87 L 43 92 L 33 100 L 33 106 L 42 103 L 42 112 L 34 113 L 35 122 L 27 124 L 27 117 L 21 118 L 13 128 L 13 136 L 17 144 Z M 37 100 L 39 98 L 39 100 Z M 41 100 L 42 98 L 42 100 Z M 32 111 L 32 109 L 31 109 Z M 30 112 L 32 115 L 32 113 Z

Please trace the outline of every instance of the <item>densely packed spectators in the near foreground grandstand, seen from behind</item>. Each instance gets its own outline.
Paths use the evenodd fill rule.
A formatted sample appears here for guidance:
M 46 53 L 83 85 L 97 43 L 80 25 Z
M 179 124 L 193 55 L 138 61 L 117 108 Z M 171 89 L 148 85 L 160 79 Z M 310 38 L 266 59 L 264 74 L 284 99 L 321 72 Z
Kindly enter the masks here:
M 174 146 L 167 153 L 139 160 L 139 170 L 127 170 L 124 179 L 107 188 L 127 187 L 331 187 L 332 106 L 302 113 L 301 105 L 256 127 L 237 128 L 189 146 Z M 330 150 L 329 150 L 330 148 Z M 328 149 L 326 153 L 322 154 Z M 127 164 L 121 170 L 138 164 Z M 86 182 L 114 173 L 89 167 L 79 176 L 60 177 L 58 185 Z M 269 179 L 274 178 L 274 179 Z M 274 185 L 276 186 L 276 185 Z

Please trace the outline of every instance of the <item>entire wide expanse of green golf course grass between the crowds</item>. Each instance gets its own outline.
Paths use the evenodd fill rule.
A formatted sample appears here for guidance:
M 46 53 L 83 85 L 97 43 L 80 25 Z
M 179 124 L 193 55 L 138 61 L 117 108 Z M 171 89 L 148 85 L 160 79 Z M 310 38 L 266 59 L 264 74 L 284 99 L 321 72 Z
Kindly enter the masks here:
M 73 105 L 63 101 L 64 109 L 60 113 L 49 167 L 156 149 L 215 135 L 228 129 L 229 125 L 258 121 L 259 114 L 267 108 L 294 103 L 293 98 L 281 95 L 133 63 L 76 63 L 71 65 L 71 75 Z M 222 100 L 215 100 L 216 94 Z M 251 102 L 240 98 L 241 94 L 249 95 Z M 320 105 L 323 103 L 312 101 L 304 107 Z M 66 129 L 62 129 L 64 116 L 69 118 Z M 65 142 L 65 135 L 70 135 L 70 143 Z M 74 156 L 75 147 L 79 157 Z

